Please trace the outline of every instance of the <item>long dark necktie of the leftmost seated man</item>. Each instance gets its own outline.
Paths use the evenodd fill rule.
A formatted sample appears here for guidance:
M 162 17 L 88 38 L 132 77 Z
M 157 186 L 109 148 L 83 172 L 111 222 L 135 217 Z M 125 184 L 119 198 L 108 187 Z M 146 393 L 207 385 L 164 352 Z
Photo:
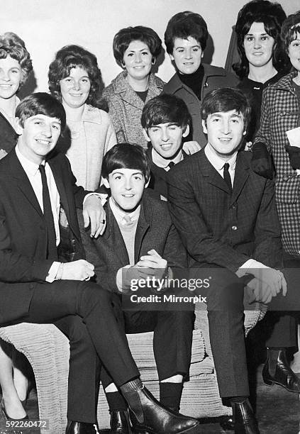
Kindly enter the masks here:
M 47 184 L 47 177 L 45 174 L 45 166 L 40 165 L 38 167 L 40 170 L 40 176 L 42 178 L 42 186 L 43 186 L 43 208 L 44 208 L 44 217 L 47 226 L 48 233 L 48 245 L 47 245 L 47 259 L 57 259 L 57 247 L 56 247 L 56 233 L 55 226 L 51 208 L 50 194 Z

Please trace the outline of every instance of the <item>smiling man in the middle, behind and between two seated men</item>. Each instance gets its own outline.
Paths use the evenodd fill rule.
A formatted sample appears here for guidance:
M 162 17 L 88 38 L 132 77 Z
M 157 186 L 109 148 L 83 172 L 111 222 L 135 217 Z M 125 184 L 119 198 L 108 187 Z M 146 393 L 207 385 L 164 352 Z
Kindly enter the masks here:
M 182 140 L 189 135 L 191 116 L 182 99 L 160 94 L 145 104 L 140 121 L 145 138 L 150 142 L 148 188 L 157 191 L 160 199 L 167 200 L 167 172 L 187 157 Z

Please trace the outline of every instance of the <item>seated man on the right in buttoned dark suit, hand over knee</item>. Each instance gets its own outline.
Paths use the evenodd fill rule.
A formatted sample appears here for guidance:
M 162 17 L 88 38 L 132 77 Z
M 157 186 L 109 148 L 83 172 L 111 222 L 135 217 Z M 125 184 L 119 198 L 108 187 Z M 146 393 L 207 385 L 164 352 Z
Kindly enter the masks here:
M 230 399 L 235 433 L 259 433 L 248 401 L 243 289 L 276 302 L 286 293 L 274 184 L 252 172 L 239 151 L 250 107 L 235 89 L 211 91 L 201 116 L 208 143 L 168 174 L 168 203 L 191 267 L 211 269 L 211 347 L 221 397 Z M 282 296 L 281 296 L 282 297 Z M 276 365 L 276 361 L 275 361 Z

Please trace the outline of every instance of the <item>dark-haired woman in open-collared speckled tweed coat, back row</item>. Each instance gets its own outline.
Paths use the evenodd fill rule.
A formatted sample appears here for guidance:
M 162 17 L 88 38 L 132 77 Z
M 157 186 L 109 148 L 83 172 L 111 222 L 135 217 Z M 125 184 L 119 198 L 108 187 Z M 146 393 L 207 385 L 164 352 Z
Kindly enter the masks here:
M 164 82 L 151 72 L 162 50 L 152 28 L 126 27 L 113 38 L 113 55 L 123 71 L 104 89 L 118 143 L 147 147 L 140 125 L 145 102 L 161 93 Z

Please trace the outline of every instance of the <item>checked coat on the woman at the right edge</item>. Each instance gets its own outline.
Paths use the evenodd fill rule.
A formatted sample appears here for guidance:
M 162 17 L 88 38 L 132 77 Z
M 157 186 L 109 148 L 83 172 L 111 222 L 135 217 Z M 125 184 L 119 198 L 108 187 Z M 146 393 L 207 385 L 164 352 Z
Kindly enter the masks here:
M 290 255 L 300 256 L 300 179 L 289 162 L 286 131 L 300 126 L 300 109 L 292 79 L 295 72 L 265 89 L 262 117 L 254 143 L 262 142 L 272 152 L 276 169 L 276 204 L 282 225 L 282 243 Z

